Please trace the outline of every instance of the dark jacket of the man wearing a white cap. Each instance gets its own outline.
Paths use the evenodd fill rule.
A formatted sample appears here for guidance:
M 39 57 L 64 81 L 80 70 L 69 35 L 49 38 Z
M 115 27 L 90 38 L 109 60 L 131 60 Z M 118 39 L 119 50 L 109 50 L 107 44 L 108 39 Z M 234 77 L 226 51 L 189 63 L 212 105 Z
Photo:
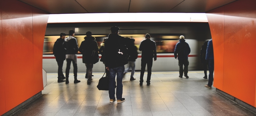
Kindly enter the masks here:
M 178 60 L 188 60 L 189 54 L 190 54 L 190 47 L 187 42 L 185 42 L 185 39 L 180 39 L 180 42 L 178 42 L 174 49 L 174 57 L 177 58 L 178 54 Z

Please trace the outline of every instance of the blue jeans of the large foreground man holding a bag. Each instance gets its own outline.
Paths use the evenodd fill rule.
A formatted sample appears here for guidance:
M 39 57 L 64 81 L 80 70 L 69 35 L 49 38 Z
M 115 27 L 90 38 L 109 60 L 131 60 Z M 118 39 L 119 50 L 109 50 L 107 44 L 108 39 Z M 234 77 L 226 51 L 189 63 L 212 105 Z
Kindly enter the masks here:
M 115 85 L 116 86 L 116 99 L 122 99 L 123 94 L 123 75 L 124 75 L 124 65 L 116 68 L 109 68 L 109 98 L 115 98 Z M 115 79 L 116 78 L 116 79 Z M 116 80 L 116 81 L 115 81 Z

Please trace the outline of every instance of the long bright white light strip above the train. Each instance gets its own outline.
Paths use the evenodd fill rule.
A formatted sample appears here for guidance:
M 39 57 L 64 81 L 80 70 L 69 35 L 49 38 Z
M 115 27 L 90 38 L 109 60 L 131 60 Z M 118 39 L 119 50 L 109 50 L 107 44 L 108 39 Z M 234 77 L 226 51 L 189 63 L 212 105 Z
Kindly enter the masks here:
M 208 22 L 205 13 L 50 14 L 48 23 L 83 22 Z

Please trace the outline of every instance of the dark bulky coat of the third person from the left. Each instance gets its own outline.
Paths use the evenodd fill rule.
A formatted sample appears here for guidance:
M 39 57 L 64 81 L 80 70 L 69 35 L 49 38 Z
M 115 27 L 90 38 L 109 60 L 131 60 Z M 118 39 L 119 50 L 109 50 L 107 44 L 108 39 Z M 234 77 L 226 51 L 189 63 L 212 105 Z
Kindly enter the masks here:
M 95 37 L 93 36 L 86 36 L 84 41 L 81 42 L 79 47 L 79 52 L 83 55 L 83 63 L 86 64 L 93 64 L 92 61 L 92 51 L 95 50 L 95 53 L 98 54 L 99 48 L 98 43 L 95 41 Z

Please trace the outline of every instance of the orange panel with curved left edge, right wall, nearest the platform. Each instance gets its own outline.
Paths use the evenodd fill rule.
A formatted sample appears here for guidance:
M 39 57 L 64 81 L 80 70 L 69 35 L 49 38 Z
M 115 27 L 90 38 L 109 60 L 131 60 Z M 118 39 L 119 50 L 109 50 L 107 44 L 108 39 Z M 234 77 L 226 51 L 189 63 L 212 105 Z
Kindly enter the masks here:
M 222 8 L 219 8 L 208 12 L 206 16 L 210 26 L 214 52 L 213 86 L 223 90 L 224 12 Z

